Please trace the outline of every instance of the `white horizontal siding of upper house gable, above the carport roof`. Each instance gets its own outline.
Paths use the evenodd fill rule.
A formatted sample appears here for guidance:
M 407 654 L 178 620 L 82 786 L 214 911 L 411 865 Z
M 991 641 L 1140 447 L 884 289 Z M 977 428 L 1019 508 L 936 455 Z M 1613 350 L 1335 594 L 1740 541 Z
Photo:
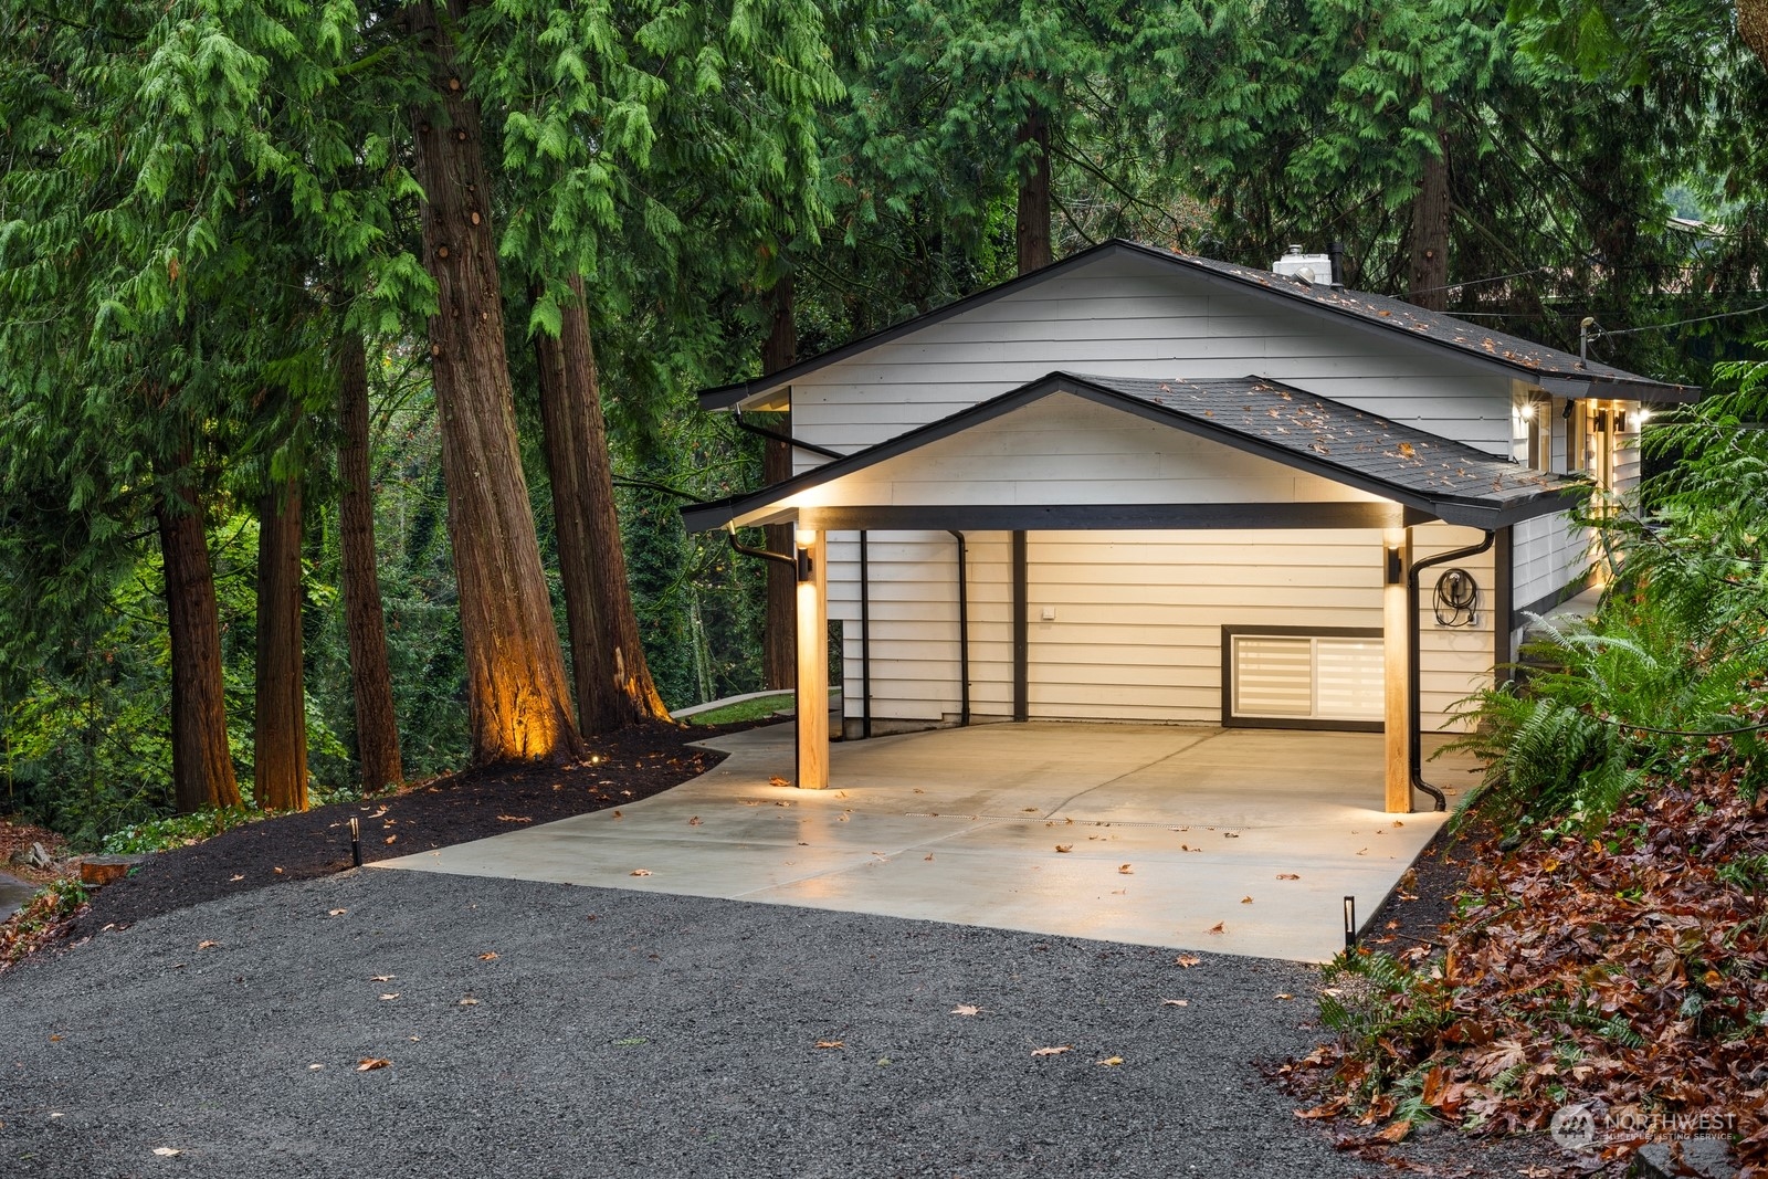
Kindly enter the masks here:
M 1055 369 L 1273 377 L 1492 454 L 1512 453 L 1508 378 L 1137 258 L 1052 276 L 806 375 L 792 385 L 794 433 L 850 453 Z M 819 461 L 797 456 L 799 470 Z

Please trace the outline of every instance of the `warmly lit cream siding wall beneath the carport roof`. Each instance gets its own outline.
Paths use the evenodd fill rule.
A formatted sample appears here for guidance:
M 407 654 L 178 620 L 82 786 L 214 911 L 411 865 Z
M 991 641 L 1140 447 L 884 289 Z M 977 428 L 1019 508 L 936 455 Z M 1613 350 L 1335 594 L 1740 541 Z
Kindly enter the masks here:
M 1446 525 L 1414 530 L 1418 555 L 1469 544 Z M 1013 696 L 1011 541 L 967 537 L 971 709 L 1008 716 Z M 958 712 L 956 541 L 942 532 L 868 539 L 872 716 Z M 857 544 L 829 548 L 831 615 L 845 622 L 845 709 L 861 700 Z M 1480 624 L 1421 613 L 1425 728 L 1490 682 L 1492 557 L 1460 562 L 1482 587 Z M 1027 546 L 1033 718 L 1220 723 L 1222 626 L 1381 628 L 1376 530 L 1033 532 Z M 1045 608 L 1054 619 L 1043 619 Z

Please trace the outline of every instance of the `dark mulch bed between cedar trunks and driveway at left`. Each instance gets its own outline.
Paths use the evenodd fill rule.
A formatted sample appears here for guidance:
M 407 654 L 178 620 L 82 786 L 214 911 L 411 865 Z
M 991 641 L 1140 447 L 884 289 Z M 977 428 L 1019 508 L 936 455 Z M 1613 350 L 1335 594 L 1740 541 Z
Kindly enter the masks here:
M 490 765 L 398 792 L 262 818 L 149 856 L 127 879 L 92 894 L 67 923 L 72 942 L 187 905 L 308 880 L 352 866 L 350 818 L 361 818 L 362 863 L 430 852 L 608 806 L 636 802 L 697 778 L 723 753 L 688 748 L 753 725 L 635 725 L 591 746 L 598 762 Z

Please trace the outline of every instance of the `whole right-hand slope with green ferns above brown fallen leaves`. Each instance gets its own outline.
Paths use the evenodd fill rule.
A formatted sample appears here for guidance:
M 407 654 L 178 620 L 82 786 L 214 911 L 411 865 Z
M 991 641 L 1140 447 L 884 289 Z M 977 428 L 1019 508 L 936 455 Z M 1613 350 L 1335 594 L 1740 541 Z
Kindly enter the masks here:
M 1549 670 L 1476 698 L 1510 829 L 1473 859 L 1441 953 L 1324 976 L 1338 1041 L 1287 1073 L 1404 1138 L 1427 1119 L 1545 1130 L 1582 1103 L 1605 1158 L 1713 1133 L 1768 1167 L 1768 366 L 1658 430 L 1642 504 L 1593 504 L 1612 578 Z M 1759 1172 L 1752 1172 L 1759 1174 Z

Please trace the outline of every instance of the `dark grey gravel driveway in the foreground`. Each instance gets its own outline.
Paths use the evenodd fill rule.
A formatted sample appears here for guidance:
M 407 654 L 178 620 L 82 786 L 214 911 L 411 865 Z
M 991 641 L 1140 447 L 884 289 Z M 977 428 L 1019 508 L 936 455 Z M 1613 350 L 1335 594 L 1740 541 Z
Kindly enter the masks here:
M 352 871 L 0 976 L 0 1174 L 1374 1172 L 1252 1066 L 1312 970 L 1197 953 Z

